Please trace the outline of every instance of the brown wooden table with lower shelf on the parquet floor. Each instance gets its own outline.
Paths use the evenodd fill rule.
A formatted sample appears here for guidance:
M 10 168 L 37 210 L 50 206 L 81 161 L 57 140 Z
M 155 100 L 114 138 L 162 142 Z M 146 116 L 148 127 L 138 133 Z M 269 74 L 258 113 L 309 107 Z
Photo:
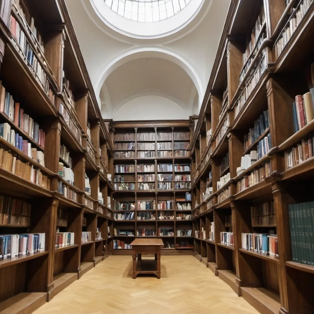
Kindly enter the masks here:
M 133 279 L 138 274 L 153 273 L 160 279 L 160 248 L 164 245 L 161 239 L 135 239 L 132 243 Z M 142 254 L 154 254 L 154 260 L 142 260 Z M 136 257 L 138 260 L 136 261 Z

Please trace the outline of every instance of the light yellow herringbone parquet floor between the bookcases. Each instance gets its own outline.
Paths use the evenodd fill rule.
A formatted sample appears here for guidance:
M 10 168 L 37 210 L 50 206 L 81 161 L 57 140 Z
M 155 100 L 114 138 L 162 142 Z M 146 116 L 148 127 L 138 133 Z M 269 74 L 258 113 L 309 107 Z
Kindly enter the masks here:
M 34 314 L 258 314 L 192 256 L 162 256 L 161 278 L 132 279 L 132 257 L 110 256 Z

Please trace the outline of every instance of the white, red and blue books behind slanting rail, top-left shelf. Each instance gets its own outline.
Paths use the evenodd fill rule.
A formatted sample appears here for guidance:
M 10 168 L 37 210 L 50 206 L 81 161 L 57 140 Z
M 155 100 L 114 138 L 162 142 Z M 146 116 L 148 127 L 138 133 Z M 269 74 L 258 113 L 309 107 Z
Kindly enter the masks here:
M 47 75 L 41 63 L 37 59 L 36 53 L 31 48 L 24 31 L 21 29 L 19 23 L 11 15 L 10 30 L 12 34 L 12 41 L 14 43 L 15 49 L 23 57 L 24 62 L 30 68 L 33 75 L 35 75 L 36 80 L 38 80 L 42 88 L 47 92 L 49 83 L 47 80 Z

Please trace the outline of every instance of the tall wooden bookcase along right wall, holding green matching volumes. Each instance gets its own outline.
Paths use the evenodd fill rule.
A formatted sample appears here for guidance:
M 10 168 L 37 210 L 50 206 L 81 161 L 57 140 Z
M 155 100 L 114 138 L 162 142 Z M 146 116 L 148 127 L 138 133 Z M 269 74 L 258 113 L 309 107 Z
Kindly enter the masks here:
M 195 256 L 261 313 L 314 311 L 313 15 L 230 3 L 191 139 Z

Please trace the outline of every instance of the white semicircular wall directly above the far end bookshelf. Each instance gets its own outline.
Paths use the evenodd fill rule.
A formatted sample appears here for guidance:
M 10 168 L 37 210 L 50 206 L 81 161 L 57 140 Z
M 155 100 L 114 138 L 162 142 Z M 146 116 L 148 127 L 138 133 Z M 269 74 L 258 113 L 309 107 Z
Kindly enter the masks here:
M 113 113 L 120 120 L 188 119 L 189 114 L 176 102 L 161 96 L 149 95 L 128 101 Z

